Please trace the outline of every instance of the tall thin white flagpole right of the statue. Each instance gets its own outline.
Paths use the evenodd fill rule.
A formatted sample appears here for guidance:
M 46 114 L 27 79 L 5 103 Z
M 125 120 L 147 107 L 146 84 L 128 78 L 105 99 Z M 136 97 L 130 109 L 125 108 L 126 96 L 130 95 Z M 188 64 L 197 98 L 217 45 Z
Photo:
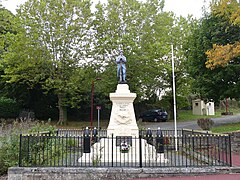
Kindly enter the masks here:
M 174 73 L 174 54 L 173 54 L 173 45 L 172 47 L 172 78 L 173 78 L 173 115 L 174 115 L 174 136 L 175 136 L 175 150 L 178 150 L 177 147 L 177 108 L 176 108 L 176 90 L 175 90 L 175 73 Z

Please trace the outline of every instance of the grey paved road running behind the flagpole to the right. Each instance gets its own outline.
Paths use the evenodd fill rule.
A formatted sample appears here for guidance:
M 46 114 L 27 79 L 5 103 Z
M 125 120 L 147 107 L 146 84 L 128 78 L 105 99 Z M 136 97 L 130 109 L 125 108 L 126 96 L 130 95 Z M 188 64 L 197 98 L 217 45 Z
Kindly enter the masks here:
M 240 122 L 240 115 L 234 116 L 222 116 L 219 118 L 211 118 L 214 121 L 214 126 L 220 126 L 223 124 L 229 123 L 237 123 Z M 143 122 L 142 126 L 151 129 L 157 129 L 157 127 L 161 127 L 161 129 L 174 129 L 174 122 Z M 187 122 L 177 122 L 178 129 L 200 129 L 197 125 L 197 120 L 187 121 Z

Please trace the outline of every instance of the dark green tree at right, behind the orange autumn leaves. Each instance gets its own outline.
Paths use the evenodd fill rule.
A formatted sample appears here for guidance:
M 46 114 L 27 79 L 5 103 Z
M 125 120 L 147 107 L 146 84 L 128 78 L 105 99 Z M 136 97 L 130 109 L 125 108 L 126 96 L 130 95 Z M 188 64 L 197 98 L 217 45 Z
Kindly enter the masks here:
M 240 29 L 225 18 L 213 14 L 206 15 L 193 29 L 188 41 L 186 55 L 188 72 L 194 79 L 193 92 L 203 99 L 219 99 L 225 97 L 239 98 L 239 64 L 230 63 L 225 68 L 206 68 L 205 52 L 213 44 L 234 43 L 239 40 Z

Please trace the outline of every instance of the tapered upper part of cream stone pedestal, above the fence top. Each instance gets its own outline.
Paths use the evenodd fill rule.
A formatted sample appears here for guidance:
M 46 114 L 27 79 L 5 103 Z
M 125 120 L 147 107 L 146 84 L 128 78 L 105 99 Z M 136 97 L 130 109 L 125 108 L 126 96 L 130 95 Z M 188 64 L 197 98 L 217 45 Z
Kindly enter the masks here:
M 138 137 L 139 130 L 136 122 L 133 101 L 136 93 L 131 93 L 127 84 L 118 84 L 115 93 L 110 93 L 112 111 L 107 128 L 107 135 Z

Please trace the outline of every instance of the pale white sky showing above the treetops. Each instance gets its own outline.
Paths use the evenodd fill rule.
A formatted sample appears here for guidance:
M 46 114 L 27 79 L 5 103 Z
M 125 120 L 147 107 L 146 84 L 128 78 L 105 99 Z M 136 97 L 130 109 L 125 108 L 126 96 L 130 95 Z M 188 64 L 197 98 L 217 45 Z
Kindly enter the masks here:
M 5 8 L 16 13 L 15 9 L 27 0 L 2 0 Z M 94 0 L 95 1 L 95 0 Z M 97 1 L 97 0 L 96 0 Z M 173 11 L 177 16 L 187 17 L 188 14 L 195 18 L 202 17 L 202 7 L 208 7 L 210 0 L 165 0 L 165 11 Z

